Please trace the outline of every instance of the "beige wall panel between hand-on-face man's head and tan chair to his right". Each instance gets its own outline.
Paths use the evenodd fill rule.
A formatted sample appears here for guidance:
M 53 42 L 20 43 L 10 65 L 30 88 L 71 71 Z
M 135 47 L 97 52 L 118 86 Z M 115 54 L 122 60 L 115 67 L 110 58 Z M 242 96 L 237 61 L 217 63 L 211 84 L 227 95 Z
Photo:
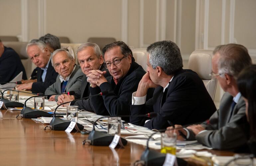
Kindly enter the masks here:
M 190 55 L 195 49 L 196 0 L 182 1 L 181 53 Z

